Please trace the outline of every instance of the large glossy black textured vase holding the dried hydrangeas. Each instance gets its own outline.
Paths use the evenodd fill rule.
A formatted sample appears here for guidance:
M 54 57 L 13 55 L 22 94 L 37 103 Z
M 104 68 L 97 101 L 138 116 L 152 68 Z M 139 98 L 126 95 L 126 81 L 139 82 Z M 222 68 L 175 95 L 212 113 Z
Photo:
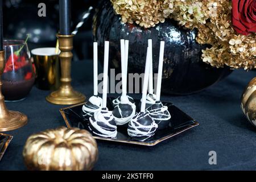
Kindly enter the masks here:
M 129 39 L 128 73 L 143 73 L 147 40 L 152 39 L 153 72 L 158 72 L 160 40 L 164 40 L 162 92 L 189 94 L 198 92 L 221 80 L 229 68 L 213 68 L 201 60 L 201 50 L 207 45 L 196 43 L 196 30 L 185 30 L 174 20 L 166 19 L 153 28 L 121 22 L 109 1 L 101 1 L 93 19 L 94 40 L 100 44 L 99 59 L 103 63 L 104 41 L 109 40 L 110 68 L 121 72 L 120 39 Z

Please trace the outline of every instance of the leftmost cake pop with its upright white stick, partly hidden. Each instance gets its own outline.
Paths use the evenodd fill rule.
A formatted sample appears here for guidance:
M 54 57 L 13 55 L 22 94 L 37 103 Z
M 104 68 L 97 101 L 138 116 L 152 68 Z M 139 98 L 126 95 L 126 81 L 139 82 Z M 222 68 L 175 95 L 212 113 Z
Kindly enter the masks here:
M 87 120 L 101 110 L 102 98 L 98 97 L 98 44 L 93 43 L 93 96 L 82 106 L 82 116 Z

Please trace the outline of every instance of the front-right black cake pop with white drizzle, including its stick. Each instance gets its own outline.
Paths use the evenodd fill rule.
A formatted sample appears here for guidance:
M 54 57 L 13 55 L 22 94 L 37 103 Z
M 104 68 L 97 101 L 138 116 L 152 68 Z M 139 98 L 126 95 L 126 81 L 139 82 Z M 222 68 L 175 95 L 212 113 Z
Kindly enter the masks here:
M 150 60 L 149 60 L 149 50 L 147 48 L 147 58 L 146 66 L 144 73 L 144 83 L 142 89 L 142 104 L 141 111 L 135 115 L 129 122 L 127 132 L 130 137 L 136 140 L 147 140 L 155 134 L 158 125 L 155 123 L 147 111 L 145 111 L 146 106 L 146 96 L 147 96 L 147 85 L 148 85 L 148 73 L 150 69 Z

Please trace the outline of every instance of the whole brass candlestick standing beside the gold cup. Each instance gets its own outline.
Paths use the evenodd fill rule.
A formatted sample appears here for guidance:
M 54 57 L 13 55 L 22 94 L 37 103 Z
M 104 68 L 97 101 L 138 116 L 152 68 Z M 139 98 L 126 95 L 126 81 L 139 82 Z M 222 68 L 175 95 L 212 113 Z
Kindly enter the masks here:
M 74 35 L 59 35 L 59 49 L 60 49 L 60 68 L 61 68 L 61 78 L 60 78 L 60 88 L 55 92 L 49 94 L 46 97 L 48 102 L 52 104 L 60 105 L 71 105 L 79 104 L 85 101 L 85 96 L 80 92 L 73 90 L 71 86 L 71 59 L 73 57 L 73 36 Z

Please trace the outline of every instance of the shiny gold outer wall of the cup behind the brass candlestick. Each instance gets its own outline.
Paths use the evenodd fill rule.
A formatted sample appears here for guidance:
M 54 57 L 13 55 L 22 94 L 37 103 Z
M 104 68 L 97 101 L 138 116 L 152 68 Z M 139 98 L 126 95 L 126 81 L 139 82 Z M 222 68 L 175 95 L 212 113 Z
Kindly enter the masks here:
M 36 87 L 43 90 L 60 88 L 60 61 L 56 55 L 33 55 L 36 67 Z

